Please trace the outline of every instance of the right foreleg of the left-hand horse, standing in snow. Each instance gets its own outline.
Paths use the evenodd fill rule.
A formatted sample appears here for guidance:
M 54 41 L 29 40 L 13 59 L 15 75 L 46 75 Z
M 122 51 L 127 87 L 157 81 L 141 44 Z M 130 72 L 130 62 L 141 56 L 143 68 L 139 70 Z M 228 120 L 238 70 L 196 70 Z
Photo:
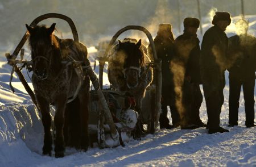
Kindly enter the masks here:
M 64 112 L 65 112 L 65 106 L 67 103 L 67 98 L 64 94 L 58 95 L 56 97 L 55 101 L 55 117 L 54 117 L 54 124 L 56 128 L 56 139 L 55 139 L 55 157 L 64 157 L 64 135 L 63 135 L 63 129 L 64 129 Z

